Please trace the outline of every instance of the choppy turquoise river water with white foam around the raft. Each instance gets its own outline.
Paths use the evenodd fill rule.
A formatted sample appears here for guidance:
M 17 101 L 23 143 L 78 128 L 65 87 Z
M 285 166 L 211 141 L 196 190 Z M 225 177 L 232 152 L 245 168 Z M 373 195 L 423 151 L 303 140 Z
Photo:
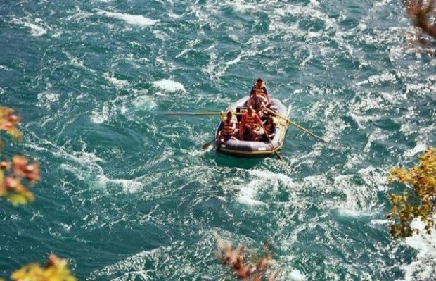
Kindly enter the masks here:
M 0 201 L 0 276 L 51 251 L 79 280 L 232 280 L 214 232 L 273 245 L 280 280 L 435 280 L 435 236 L 392 242 L 390 166 L 435 146 L 433 47 L 397 1 L 10 1 L 0 98 L 41 163 Z M 295 128 L 276 158 L 201 151 L 263 77 Z

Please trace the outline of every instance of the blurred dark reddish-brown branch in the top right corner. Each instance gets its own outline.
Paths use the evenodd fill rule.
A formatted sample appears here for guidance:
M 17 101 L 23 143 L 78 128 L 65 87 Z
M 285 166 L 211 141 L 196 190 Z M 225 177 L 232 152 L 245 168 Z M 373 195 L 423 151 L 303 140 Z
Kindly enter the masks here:
M 430 23 L 430 15 L 435 11 L 435 1 L 426 1 L 427 3 L 424 4 L 423 0 L 403 0 L 403 3 L 413 25 L 436 39 L 436 23 Z

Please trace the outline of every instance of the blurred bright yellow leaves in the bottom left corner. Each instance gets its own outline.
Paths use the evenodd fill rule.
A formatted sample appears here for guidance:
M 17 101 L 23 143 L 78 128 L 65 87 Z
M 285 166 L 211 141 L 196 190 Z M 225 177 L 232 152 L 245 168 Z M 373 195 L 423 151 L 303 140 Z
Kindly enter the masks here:
M 46 266 L 30 263 L 11 275 L 13 281 L 75 281 L 71 275 L 67 260 L 50 254 Z

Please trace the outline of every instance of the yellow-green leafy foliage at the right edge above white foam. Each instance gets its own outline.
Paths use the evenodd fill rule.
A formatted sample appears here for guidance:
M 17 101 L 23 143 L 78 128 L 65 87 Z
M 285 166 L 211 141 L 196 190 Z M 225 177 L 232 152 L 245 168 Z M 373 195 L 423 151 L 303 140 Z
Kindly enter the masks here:
M 392 237 L 409 237 L 417 232 L 411 227 L 416 218 L 425 224 L 426 232 L 431 233 L 436 211 L 436 147 L 425 150 L 413 168 L 391 168 L 388 181 L 394 180 L 409 185 L 413 194 L 406 189 L 401 195 L 390 195 L 392 210 L 387 219 L 392 221 Z

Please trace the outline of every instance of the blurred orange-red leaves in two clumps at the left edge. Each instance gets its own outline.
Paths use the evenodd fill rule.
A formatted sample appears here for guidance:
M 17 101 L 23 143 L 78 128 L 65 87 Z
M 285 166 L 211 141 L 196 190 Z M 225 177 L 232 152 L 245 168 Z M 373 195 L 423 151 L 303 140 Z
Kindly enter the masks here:
M 21 132 L 17 126 L 20 117 L 13 109 L 0 106 L 0 130 L 13 139 L 20 139 Z M 0 139 L 0 146 L 3 144 Z M 25 156 L 15 155 L 12 161 L 0 162 L 0 197 L 6 198 L 14 206 L 34 201 L 34 195 L 24 182 L 33 184 L 39 180 L 38 163 L 28 163 Z

